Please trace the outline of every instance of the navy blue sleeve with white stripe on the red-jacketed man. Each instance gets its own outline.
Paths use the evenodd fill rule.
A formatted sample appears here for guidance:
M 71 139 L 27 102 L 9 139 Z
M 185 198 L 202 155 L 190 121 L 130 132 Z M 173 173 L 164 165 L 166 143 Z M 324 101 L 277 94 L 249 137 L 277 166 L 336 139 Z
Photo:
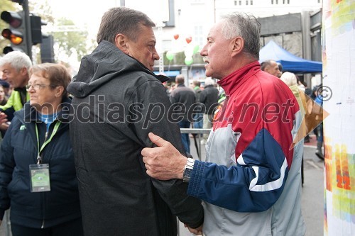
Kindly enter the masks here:
M 283 150 L 262 129 L 227 168 L 195 161 L 187 193 L 216 206 L 238 212 L 261 212 L 278 200 L 288 176 Z

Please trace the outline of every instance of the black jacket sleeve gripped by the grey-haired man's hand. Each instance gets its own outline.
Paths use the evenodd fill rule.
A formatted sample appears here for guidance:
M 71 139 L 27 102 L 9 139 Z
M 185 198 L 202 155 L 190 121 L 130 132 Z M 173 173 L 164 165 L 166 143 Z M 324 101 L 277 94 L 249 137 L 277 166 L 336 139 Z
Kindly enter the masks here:
M 171 103 L 163 84 L 156 80 L 148 81 L 137 88 L 134 96 L 136 98 L 133 98 L 133 102 L 141 103 L 140 112 L 143 119 L 133 122 L 133 125 L 135 130 L 140 130 L 136 134 L 143 145 L 153 147 L 153 143 L 148 137 L 148 133 L 153 132 L 183 152 L 180 128 L 178 123 L 172 120 Z M 141 164 L 144 165 L 142 159 Z M 144 169 L 146 168 L 144 167 Z M 178 179 L 169 181 L 152 179 L 152 182 L 161 198 L 182 223 L 186 223 L 190 227 L 198 227 L 203 223 L 202 203 L 199 199 L 187 195 L 186 183 Z

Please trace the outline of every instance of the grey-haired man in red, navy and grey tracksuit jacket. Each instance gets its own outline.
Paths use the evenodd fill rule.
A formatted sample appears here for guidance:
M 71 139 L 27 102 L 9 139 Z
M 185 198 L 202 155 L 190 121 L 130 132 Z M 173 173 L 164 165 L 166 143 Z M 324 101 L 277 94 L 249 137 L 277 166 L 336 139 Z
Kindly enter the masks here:
M 226 101 L 209 134 L 206 161 L 184 157 L 149 134 L 157 147 L 142 150 L 147 174 L 184 179 L 204 201 L 204 235 L 305 235 L 301 212 L 303 143 L 293 142 L 302 120 L 288 86 L 261 71 L 261 25 L 229 13 L 212 26 L 206 76 L 218 79 Z

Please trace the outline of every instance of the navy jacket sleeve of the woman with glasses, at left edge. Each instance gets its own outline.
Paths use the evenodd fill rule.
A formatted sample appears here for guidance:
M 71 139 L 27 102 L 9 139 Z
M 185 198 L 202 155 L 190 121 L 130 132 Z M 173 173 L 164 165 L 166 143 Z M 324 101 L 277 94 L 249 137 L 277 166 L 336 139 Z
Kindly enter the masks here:
M 13 147 L 11 147 L 11 133 L 13 123 L 6 132 L 1 143 L 0 151 L 0 219 L 4 217 L 5 210 L 10 208 L 10 198 L 7 186 L 11 182 L 15 160 L 13 159 Z

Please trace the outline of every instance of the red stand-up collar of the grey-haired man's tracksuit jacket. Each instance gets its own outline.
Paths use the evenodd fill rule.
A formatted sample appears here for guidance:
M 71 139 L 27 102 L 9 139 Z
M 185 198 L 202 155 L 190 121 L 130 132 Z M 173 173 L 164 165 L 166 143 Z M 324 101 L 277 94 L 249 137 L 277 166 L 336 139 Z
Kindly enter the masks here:
M 230 94 L 233 94 L 233 92 L 236 91 L 236 89 L 238 89 L 241 84 L 244 84 L 246 80 L 248 80 L 258 71 L 260 71 L 259 62 L 251 62 L 250 64 L 246 64 L 244 67 L 237 69 L 235 72 L 232 72 L 228 76 L 219 80 L 217 83 L 222 86 L 226 92 L 226 95 L 229 96 Z

